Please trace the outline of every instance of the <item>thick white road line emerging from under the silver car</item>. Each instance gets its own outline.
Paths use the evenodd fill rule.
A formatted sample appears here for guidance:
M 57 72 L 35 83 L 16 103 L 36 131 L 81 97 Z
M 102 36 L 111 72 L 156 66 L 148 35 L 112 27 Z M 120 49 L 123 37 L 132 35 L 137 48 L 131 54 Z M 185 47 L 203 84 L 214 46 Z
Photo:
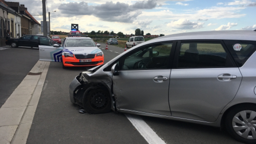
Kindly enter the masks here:
M 138 130 L 138 132 L 145 138 L 145 140 L 150 143 L 156 144 L 166 144 L 158 135 L 157 133 L 146 124 L 145 121 L 141 119 L 140 116 L 127 114 L 125 113 L 127 119 L 133 124 L 133 126 Z

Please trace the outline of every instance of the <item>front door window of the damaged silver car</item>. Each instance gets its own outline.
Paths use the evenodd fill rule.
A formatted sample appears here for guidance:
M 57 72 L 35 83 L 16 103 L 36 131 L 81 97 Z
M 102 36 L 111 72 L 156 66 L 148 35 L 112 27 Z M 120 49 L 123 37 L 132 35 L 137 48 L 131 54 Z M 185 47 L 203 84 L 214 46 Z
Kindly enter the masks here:
M 137 48 L 138 50 L 124 56 L 122 70 L 166 69 L 172 45 L 172 43 L 162 43 Z

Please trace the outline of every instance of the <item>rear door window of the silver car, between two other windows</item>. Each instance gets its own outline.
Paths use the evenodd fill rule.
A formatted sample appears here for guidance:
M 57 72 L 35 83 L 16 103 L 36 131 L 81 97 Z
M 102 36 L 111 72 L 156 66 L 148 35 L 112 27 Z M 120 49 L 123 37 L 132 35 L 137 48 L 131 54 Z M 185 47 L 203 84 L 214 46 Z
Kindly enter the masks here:
M 181 43 L 178 68 L 233 67 L 221 43 Z

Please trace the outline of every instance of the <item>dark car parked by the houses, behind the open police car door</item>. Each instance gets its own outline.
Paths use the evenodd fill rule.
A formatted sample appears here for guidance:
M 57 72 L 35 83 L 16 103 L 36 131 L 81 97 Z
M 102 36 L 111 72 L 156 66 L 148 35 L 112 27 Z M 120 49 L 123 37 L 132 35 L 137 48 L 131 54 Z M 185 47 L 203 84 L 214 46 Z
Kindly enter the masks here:
M 20 38 L 8 39 L 6 40 L 6 45 L 11 45 L 11 47 L 18 47 L 18 46 L 28 46 L 28 47 L 38 47 L 39 39 L 38 37 L 45 37 L 45 36 L 38 36 L 38 35 L 25 35 Z M 48 38 L 48 37 L 45 37 Z

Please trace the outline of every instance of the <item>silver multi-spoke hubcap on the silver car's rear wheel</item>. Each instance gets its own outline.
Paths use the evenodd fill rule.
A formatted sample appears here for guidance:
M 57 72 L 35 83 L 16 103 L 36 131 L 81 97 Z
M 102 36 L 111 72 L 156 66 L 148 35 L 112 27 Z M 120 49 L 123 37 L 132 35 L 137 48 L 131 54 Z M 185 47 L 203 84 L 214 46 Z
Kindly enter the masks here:
M 256 112 L 244 110 L 232 119 L 233 130 L 243 138 L 256 139 Z

